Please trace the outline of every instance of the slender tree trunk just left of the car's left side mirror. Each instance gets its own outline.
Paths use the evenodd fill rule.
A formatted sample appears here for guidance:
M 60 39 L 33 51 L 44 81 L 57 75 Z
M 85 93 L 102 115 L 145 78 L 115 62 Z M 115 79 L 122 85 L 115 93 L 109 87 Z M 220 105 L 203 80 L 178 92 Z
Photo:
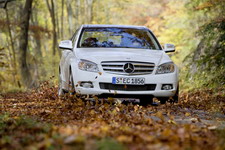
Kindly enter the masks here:
M 52 21 L 52 25 L 53 25 L 53 30 L 52 30 L 52 34 L 53 34 L 53 56 L 55 56 L 56 54 L 56 44 L 57 44 L 57 33 L 56 33 L 56 19 L 55 19 L 55 5 L 54 5 L 54 1 L 51 0 L 51 6 L 48 0 L 46 0 L 47 6 L 48 6 L 48 10 L 51 16 L 51 21 Z

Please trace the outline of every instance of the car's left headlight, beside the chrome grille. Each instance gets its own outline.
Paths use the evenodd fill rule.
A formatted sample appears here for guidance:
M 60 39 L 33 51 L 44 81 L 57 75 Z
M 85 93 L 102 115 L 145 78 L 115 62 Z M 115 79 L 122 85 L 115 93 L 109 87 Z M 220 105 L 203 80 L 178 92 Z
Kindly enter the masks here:
M 78 67 L 80 70 L 84 71 L 99 72 L 97 64 L 88 60 L 81 59 L 78 63 Z

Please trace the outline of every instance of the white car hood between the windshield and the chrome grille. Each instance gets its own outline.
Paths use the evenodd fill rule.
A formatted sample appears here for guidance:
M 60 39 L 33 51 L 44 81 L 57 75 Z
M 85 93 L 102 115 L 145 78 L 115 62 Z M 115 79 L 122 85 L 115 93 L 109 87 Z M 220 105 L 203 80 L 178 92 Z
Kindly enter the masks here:
M 102 61 L 139 61 L 156 65 L 171 61 L 162 50 L 130 48 L 78 48 L 75 50 L 78 59 L 85 59 L 97 64 Z

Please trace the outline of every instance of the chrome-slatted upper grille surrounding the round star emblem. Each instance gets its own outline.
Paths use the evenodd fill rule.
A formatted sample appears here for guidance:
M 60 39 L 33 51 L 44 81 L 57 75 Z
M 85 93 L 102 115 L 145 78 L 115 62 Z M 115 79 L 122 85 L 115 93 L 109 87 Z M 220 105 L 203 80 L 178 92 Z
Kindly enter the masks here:
M 124 65 L 127 63 L 133 65 L 134 71 L 132 73 L 127 73 L 124 71 Z M 103 61 L 101 65 L 105 72 L 123 75 L 151 74 L 155 67 L 154 63 L 136 61 Z

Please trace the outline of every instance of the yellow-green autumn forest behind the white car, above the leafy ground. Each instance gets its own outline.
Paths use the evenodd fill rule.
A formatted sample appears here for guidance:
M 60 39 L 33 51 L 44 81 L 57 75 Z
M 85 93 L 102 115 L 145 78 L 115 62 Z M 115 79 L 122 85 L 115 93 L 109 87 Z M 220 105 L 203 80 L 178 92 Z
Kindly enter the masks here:
M 224 0 L 9 0 L 0 1 L 0 92 L 56 84 L 61 50 L 82 24 L 149 27 L 160 43 L 173 43 L 183 90 L 225 84 Z M 28 46 L 23 23 L 28 12 Z M 29 18 L 28 17 L 28 18 Z

